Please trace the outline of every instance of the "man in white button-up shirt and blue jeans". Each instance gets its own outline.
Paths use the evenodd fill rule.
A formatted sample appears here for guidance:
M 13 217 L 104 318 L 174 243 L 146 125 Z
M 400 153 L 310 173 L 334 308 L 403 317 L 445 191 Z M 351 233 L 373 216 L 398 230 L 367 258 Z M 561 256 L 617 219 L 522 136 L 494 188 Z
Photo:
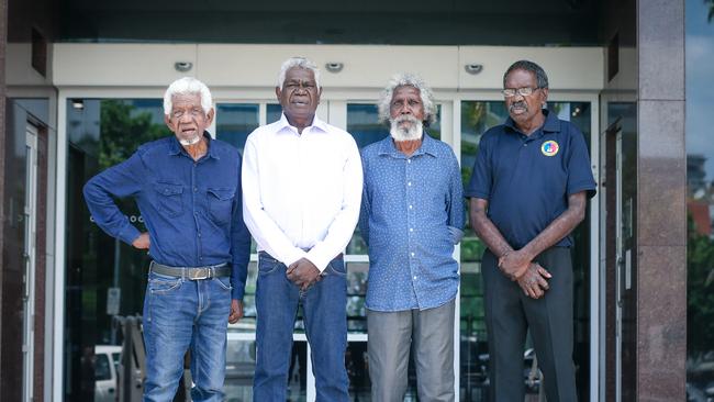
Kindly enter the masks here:
M 359 216 L 362 170 L 349 133 L 315 115 L 320 70 L 283 63 L 279 121 L 245 145 L 243 213 L 258 244 L 254 401 L 287 399 L 292 332 L 302 304 L 317 401 L 348 401 L 343 252 Z

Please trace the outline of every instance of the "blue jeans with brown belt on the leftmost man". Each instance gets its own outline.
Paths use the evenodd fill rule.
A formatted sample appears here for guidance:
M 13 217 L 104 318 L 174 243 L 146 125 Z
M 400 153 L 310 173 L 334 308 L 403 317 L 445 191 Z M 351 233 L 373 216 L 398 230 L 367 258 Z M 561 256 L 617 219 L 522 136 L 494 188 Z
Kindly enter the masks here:
M 174 400 L 191 348 L 193 401 L 223 401 L 231 278 L 188 280 L 149 272 L 144 298 L 144 401 Z

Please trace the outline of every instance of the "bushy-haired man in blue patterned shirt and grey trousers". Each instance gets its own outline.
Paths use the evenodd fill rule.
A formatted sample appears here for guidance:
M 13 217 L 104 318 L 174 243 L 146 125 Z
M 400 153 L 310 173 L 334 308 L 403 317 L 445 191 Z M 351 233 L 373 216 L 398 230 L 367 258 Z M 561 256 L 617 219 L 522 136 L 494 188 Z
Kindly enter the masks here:
M 464 188 L 451 148 L 425 131 L 432 91 L 394 76 L 379 103 L 390 136 L 365 147 L 361 234 L 369 246 L 367 324 L 371 397 L 403 401 L 410 348 L 419 399 L 454 401 L 454 246 L 465 222 Z

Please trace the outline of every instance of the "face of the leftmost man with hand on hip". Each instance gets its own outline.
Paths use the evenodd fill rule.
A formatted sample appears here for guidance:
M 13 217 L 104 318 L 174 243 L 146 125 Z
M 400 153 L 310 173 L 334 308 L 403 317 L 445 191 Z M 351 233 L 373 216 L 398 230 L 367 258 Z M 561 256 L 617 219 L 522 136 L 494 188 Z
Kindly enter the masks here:
M 213 109 L 201 108 L 200 93 L 177 93 L 171 97 L 171 114 L 164 116 L 166 125 L 179 142 L 194 143 L 213 121 Z

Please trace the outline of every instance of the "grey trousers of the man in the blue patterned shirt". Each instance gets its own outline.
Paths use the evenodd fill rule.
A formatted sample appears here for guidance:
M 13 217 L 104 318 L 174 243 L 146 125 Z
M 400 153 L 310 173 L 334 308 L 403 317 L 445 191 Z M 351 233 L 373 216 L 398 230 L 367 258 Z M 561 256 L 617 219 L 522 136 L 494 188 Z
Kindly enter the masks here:
M 367 310 L 367 354 L 372 402 L 402 402 L 410 347 L 421 402 L 455 400 L 454 300 L 435 309 Z

